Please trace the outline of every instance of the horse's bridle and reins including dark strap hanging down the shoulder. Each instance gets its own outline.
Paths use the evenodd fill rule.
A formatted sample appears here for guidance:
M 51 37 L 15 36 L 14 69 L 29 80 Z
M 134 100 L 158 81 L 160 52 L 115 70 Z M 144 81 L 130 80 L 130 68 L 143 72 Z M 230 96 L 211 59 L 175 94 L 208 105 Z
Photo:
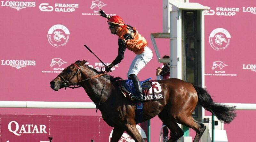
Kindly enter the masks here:
M 78 83 L 84 82 L 84 81 L 86 81 L 86 80 L 90 80 L 90 79 L 92 79 L 92 78 L 97 78 L 97 77 L 99 77 L 99 76 L 102 76 L 102 75 L 105 75 L 105 74 L 108 73 L 108 72 L 106 72 L 106 73 L 98 74 L 98 75 L 95 75 L 95 76 L 92 76 L 92 77 L 90 77 L 90 78 L 86 78 L 86 79 L 80 81 L 80 80 L 81 80 L 81 69 L 80 69 L 80 65 L 78 66 L 78 65 L 76 65 L 75 63 L 72 63 L 72 64 L 77 67 L 77 70 L 76 70 L 75 73 L 73 73 L 73 74 L 68 78 L 68 80 L 66 80 L 65 78 L 63 78 L 61 75 L 58 75 L 61 79 L 64 80 L 64 83 L 63 83 L 63 84 L 65 85 L 65 90 L 66 90 L 67 87 L 68 87 L 68 88 L 72 88 L 72 89 L 82 87 L 82 86 L 78 86 Z M 100 68 L 100 71 L 102 71 L 102 67 Z M 78 81 L 78 82 L 75 82 L 75 83 L 69 83 L 70 79 L 72 79 L 78 72 L 79 72 L 79 74 L 80 74 L 79 81 Z M 60 80 L 61 80 L 61 79 L 60 79 Z M 102 87 L 102 90 L 101 90 L 101 93 L 100 93 L 100 101 L 99 101 L 99 104 L 96 106 L 96 113 L 97 113 L 97 110 L 98 110 L 98 108 L 99 108 L 99 106 L 100 106 L 100 102 L 101 102 L 101 98 L 102 98 L 102 94 L 103 94 L 103 89 L 104 89 L 104 86 L 105 86 L 106 83 L 107 83 L 107 80 L 108 80 L 108 79 L 106 79 L 106 81 L 105 81 L 105 83 L 104 83 L 104 85 L 103 85 L 103 87 Z M 60 85 L 63 85 L 63 84 L 60 84 Z M 73 86 L 73 85 L 74 85 L 74 87 L 70 87 L 70 86 Z

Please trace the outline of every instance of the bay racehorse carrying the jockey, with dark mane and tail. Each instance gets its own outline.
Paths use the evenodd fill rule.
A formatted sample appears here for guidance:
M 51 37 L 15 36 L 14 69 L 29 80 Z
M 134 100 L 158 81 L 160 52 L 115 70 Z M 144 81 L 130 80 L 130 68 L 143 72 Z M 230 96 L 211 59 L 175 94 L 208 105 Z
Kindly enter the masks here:
M 135 142 L 144 142 L 136 129 L 136 103 L 122 94 L 116 80 L 104 73 L 84 65 L 87 61 L 76 61 L 65 68 L 54 78 L 51 88 L 58 91 L 71 85 L 84 88 L 95 105 L 100 103 L 99 110 L 106 123 L 114 127 L 111 142 L 117 142 L 126 131 Z M 196 105 L 214 114 L 222 123 L 230 123 L 235 117 L 235 107 L 228 107 L 213 102 L 209 93 L 202 87 L 195 86 L 177 78 L 158 80 L 163 100 L 143 101 L 143 122 L 156 115 L 171 130 L 171 138 L 167 142 L 175 142 L 184 132 L 177 123 L 196 131 L 193 142 L 198 142 L 206 126 L 192 117 Z M 102 94 L 102 97 L 101 95 Z

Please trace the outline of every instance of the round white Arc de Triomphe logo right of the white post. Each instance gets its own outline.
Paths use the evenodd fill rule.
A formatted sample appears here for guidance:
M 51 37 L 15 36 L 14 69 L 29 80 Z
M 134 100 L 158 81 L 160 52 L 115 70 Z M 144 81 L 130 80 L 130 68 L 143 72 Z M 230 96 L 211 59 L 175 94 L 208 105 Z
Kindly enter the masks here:
M 216 51 L 226 49 L 230 43 L 230 39 L 230 34 L 223 28 L 214 29 L 209 36 L 210 45 Z

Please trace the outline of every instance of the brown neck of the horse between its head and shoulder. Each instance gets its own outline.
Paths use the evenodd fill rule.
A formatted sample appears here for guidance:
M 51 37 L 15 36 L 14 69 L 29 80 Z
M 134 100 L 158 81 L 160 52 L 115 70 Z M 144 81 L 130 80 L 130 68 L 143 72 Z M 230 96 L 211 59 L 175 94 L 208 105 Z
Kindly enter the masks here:
M 93 77 L 93 76 L 96 76 L 96 75 L 99 75 L 98 73 L 94 72 L 93 70 L 91 70 L 89 68 L 87 68 L 86 70 L 87 71 L 81 72 L 81 75 L 82 75 L 81 77 L 83 80 Z M 85 92 L 88 94 L 88 96 L 94 103 L 99 103 L 100 93 L 101 93 L 102 89 L 103 89 L 103 94 L 102 94 L 101 101 L 104 102 L 108 98 L 109 94 L 107 93 L 108 91 L 106 91 L 106 88 L 107 88 L 107 86 L 111 85 L 111 82 L 110 82 L 110 80 L 107 80 L 107 83 L 103 88 L 103 85 L 106 80 L 107 80 L 107 78 L 100 76 L 100 77 L 89 79 L 88 81 L 85 81 L 83 83 L 82 87 L 84 88 Z

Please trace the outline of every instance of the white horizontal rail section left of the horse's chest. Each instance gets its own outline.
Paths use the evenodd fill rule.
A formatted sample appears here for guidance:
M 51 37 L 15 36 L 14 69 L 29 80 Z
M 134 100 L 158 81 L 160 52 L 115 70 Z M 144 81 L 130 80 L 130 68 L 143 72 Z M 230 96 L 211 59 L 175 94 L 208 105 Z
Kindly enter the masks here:
M 93 102 L 0 101 L 0 108 L 96 108 Z

